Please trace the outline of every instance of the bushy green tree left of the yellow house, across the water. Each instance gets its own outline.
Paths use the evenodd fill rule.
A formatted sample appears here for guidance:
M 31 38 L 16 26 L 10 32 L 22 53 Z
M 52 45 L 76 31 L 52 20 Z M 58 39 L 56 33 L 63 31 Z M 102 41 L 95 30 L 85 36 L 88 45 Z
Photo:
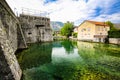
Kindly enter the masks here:
M 72 30 L 73 30 L 73 23 L 67 22 L 61 28 L 60 32 L 61 32 L 61 35 L 69 37 L 72 35 Z

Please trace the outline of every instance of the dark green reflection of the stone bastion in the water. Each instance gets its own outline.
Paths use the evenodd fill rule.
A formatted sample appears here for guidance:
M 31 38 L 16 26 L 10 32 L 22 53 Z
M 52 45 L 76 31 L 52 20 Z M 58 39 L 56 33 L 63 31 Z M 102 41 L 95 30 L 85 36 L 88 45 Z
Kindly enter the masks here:
M 33 44 L 19 55 L 18 61 L 23 69 L 39 67 L 42 64 L 50 63 L 52 55 L 52 44 Z

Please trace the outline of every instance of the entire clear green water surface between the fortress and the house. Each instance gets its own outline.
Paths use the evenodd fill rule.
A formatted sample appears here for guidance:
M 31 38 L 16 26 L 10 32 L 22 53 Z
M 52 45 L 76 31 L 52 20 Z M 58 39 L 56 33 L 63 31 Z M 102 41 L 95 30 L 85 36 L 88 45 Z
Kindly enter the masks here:
M 120 80 L 120 46 L 76 41 L 32 44 L 19 53 L 23 80 Z

